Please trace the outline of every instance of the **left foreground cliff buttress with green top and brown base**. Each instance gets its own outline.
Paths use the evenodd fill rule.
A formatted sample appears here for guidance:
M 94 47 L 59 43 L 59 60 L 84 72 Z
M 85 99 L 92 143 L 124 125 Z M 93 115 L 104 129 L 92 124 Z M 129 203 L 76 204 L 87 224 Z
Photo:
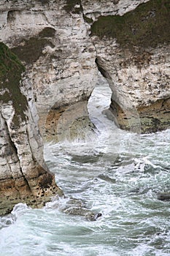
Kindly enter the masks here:
M 61 194 L 43 160 L 31 84 L 24 67 L 0 43 L 0 214 L 19 202 L 40 207 Z

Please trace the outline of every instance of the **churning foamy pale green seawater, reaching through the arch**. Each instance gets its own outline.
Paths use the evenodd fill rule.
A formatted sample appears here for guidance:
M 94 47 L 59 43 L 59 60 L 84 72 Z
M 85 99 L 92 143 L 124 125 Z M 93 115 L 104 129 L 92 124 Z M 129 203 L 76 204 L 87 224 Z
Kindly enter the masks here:
M 101 212 L 96 222 L 64 214 L 68 198 L 43 209 L 25 204 L 0 219 L 1 256 L 170 255 L 170 130 L 150 135 L 121 131 L 102 111 L 109 89 L 96 86 L 89 102 L 94 138 L 45 145 L 45 159 L 68 197 Z

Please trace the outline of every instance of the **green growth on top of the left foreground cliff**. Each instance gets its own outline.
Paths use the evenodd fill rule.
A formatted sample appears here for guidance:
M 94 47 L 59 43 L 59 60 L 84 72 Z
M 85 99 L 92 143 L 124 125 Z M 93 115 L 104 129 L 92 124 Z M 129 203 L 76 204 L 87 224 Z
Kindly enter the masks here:
M 0 101 L 12 102 L 15 109 L 13 123 L 16 127 L 21 121 L 26 121 L 25 111 L 28 108 L 26 96 L 20 91 L 20 80 L 25 67 L 9 48 L 0 42 Z

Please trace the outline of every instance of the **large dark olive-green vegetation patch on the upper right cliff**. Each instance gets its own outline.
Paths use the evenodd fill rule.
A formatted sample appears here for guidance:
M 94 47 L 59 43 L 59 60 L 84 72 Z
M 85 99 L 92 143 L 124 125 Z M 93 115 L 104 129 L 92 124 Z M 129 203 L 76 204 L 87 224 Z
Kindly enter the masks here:
M 121 47 L 155 48 L 170 42 L 170 1 L 151 0 L 123 16 L 100 16 L 91 35 L 117 39 Z

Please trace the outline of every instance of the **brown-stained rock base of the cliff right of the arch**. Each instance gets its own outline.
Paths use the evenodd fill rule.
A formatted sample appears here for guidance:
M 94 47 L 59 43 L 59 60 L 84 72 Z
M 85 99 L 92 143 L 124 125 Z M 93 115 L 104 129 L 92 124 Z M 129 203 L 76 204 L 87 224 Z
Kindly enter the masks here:
M 134 113 L 134 109 L 123 110 L 115 102 L 111 103 L 110 110 L 120 129 L 150 133 L 170 127 L 170 99 L 158 99 L 148 106 L 136 108 L 136 113 Z

